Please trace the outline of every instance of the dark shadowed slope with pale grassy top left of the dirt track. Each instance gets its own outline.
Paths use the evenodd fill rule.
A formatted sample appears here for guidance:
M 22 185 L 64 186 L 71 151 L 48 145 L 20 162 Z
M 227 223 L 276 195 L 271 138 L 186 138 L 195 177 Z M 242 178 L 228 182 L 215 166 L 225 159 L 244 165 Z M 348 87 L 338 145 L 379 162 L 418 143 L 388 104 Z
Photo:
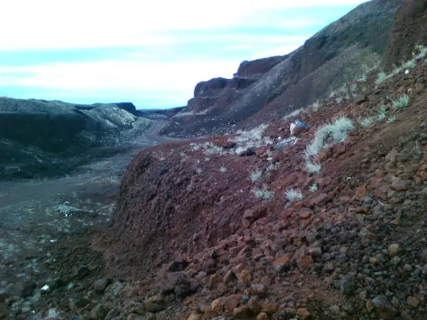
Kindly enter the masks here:
M 132 103 L 0 99 L 0 179 L 55 176 L 142 139 L 151 121 Z

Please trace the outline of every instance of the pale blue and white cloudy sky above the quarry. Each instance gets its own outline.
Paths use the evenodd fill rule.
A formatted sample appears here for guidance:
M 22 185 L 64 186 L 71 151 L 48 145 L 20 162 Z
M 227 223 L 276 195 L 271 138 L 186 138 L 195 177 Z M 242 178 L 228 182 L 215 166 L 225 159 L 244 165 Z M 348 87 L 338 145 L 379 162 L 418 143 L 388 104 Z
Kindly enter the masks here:
M 292 52 L 362 2 L 0 1 L 0 96 L 187 105 L 198 82 Z

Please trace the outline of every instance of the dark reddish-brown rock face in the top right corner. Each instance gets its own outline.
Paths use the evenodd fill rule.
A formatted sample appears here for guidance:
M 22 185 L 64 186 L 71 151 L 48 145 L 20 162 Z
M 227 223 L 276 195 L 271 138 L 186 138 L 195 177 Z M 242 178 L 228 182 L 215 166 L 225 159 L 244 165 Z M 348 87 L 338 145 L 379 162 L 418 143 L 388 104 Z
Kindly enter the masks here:
M 427 0 L 404 0 L 395 17 L 383 66 L 412 58 L 415 45 L 427 45 Z

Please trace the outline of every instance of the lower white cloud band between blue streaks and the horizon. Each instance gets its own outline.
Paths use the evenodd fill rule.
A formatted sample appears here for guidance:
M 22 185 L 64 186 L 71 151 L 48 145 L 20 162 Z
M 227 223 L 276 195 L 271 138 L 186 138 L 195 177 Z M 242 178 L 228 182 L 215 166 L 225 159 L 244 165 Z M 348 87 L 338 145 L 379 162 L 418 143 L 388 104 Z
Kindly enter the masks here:
M 70 90 L 190 90 L 207 75 L 232 76 L 236 61 L 98 61 L 0 67 L 0 84 Z M 166 87 L 167 85 L 167 87 Z

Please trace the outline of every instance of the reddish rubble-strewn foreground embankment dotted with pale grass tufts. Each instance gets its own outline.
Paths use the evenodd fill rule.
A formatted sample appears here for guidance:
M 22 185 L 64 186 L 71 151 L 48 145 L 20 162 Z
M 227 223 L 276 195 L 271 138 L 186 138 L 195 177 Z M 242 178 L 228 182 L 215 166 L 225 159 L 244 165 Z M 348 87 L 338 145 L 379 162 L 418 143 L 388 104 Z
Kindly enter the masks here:
M 141 151 L 98 242 L 138 279 L 127 314 L 425 319 L 426 52 L 304 109 L 296 136 L 288 118 Z

